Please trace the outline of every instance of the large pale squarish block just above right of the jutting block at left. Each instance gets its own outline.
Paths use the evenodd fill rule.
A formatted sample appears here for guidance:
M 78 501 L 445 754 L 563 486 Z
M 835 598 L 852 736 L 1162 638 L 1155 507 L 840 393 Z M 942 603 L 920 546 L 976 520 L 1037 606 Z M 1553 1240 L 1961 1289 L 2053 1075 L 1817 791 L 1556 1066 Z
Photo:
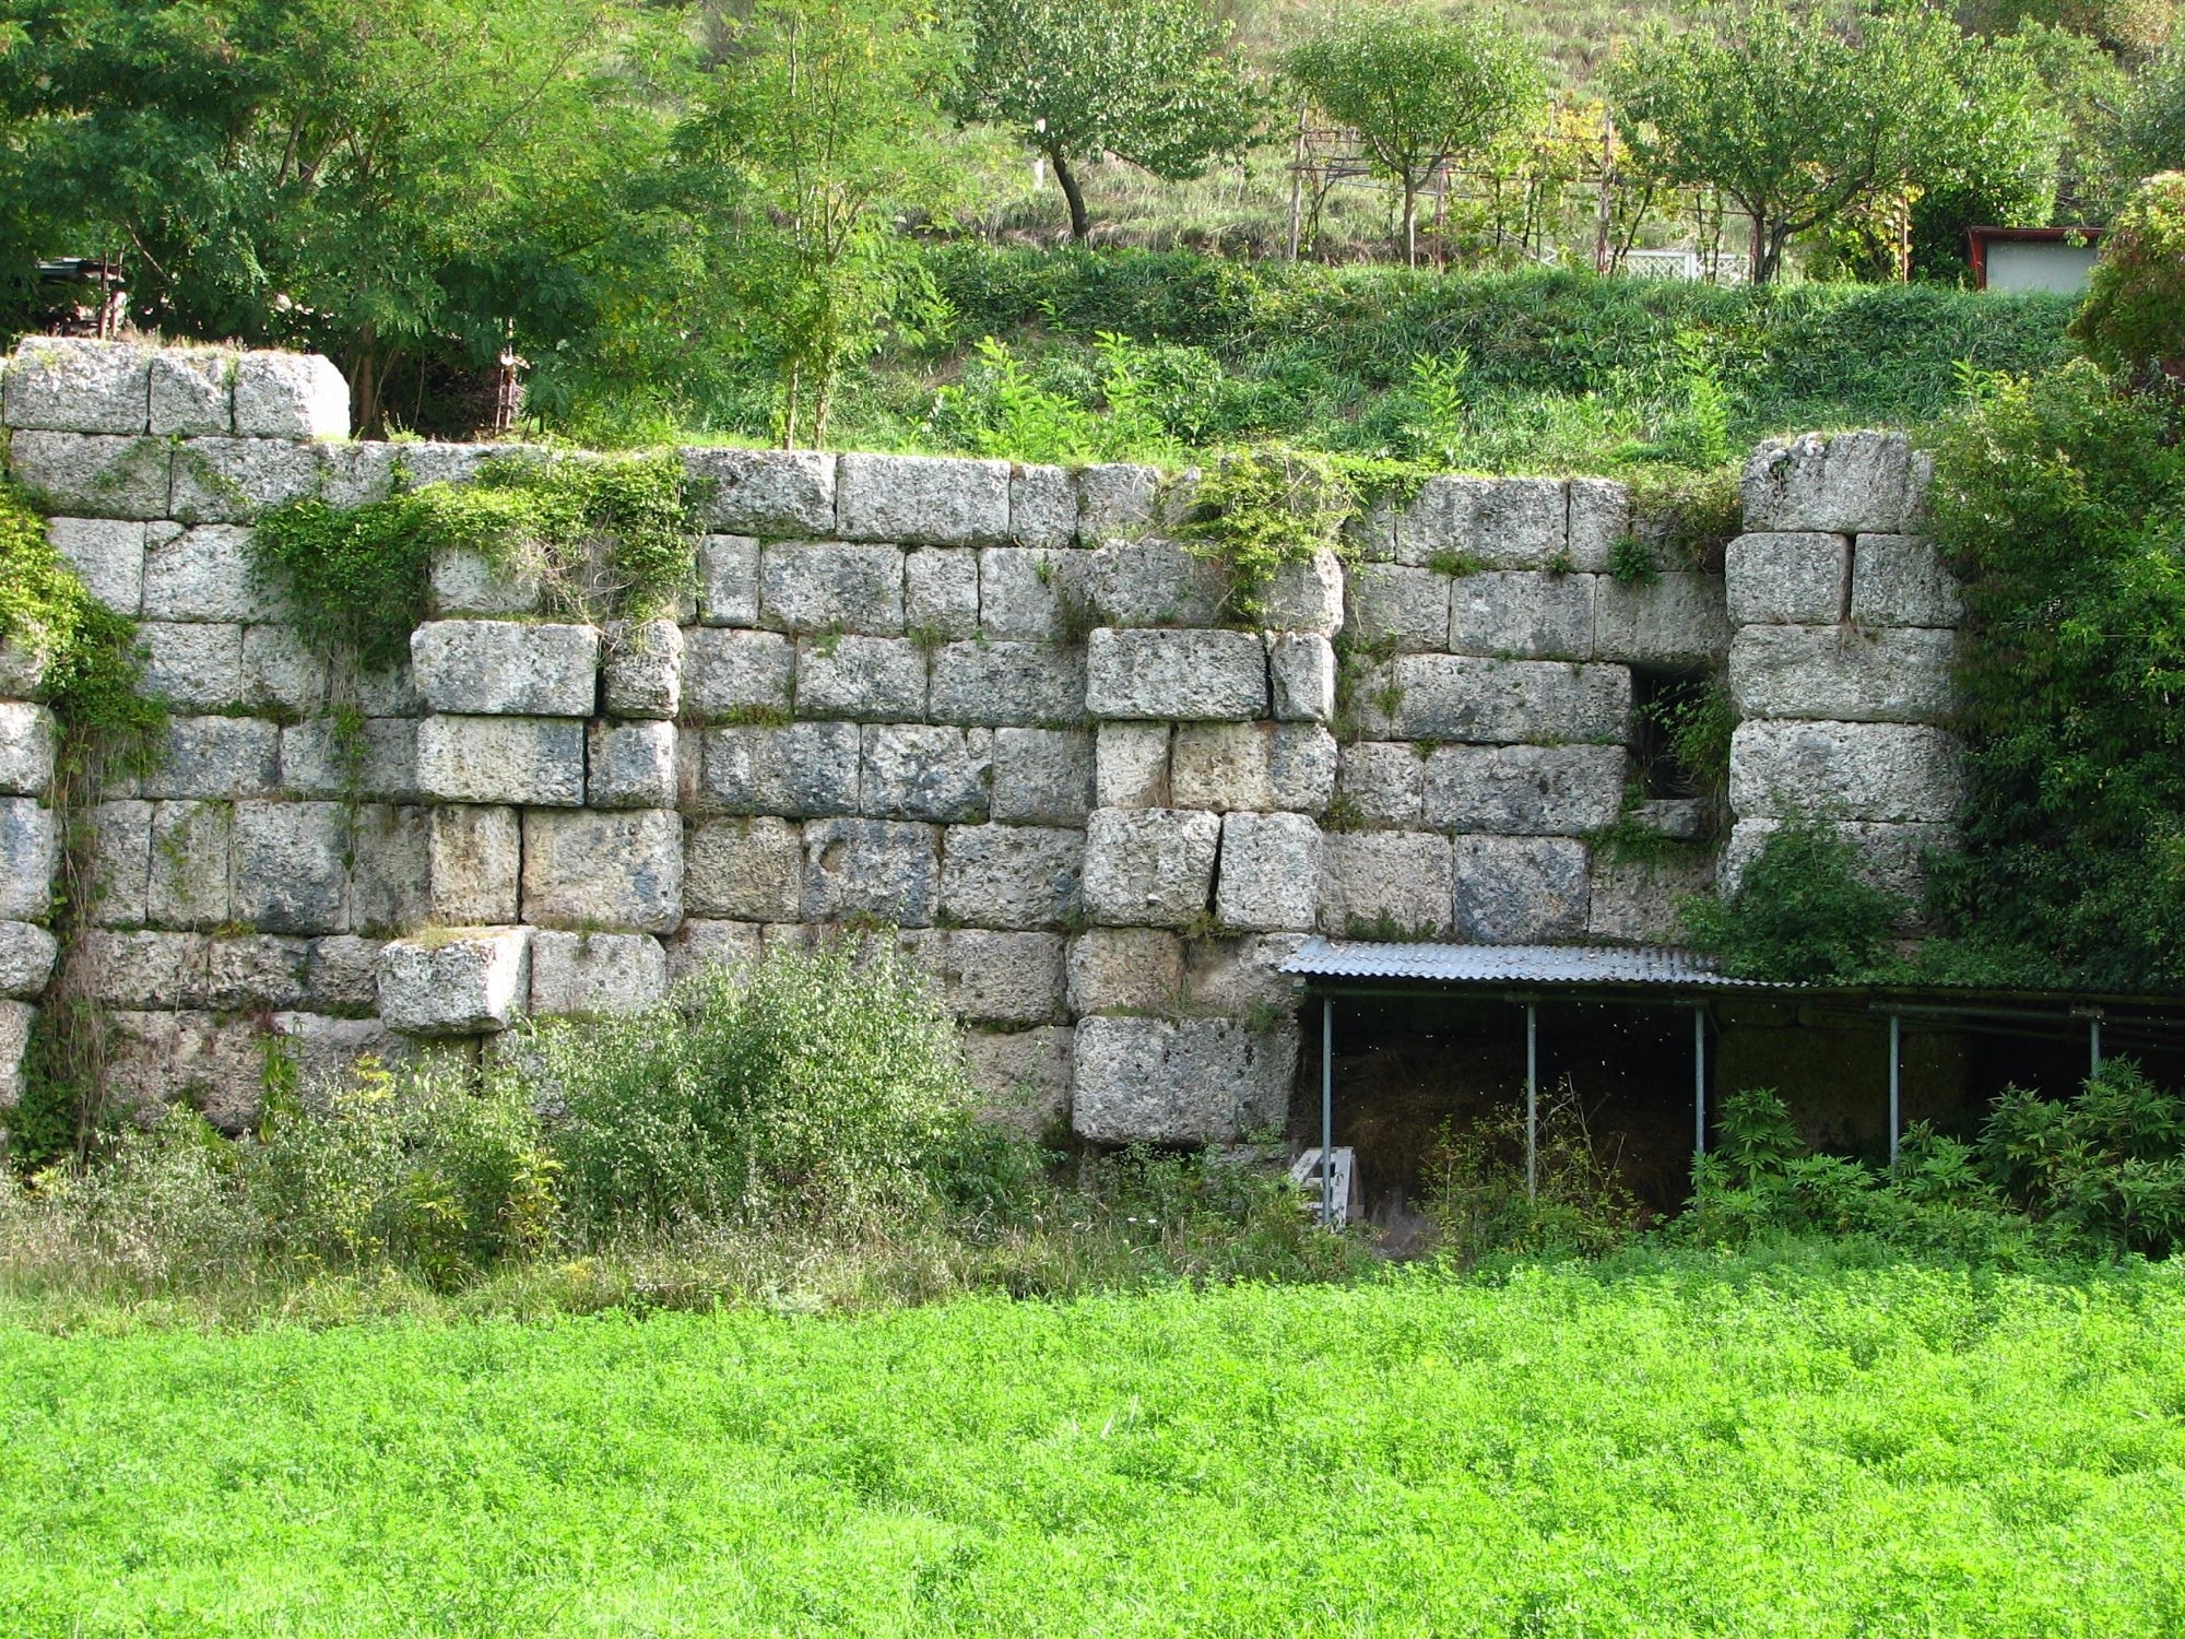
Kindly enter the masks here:
M 527 813 L 524 920 L 673 933 L 682 922 L 682 817 L 666 809 Z

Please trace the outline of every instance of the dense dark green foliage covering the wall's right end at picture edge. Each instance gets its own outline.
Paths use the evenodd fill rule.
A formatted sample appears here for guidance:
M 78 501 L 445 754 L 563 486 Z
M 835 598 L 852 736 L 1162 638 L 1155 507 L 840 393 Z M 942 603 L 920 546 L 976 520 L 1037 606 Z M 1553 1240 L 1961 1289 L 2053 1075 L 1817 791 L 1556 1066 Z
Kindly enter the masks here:
M 1945 424 L 1934 533 L 1964 583 L 1964 852 L 1934 911 L 1991 972 L 2185 981 L 2185 450 L 2089 363 Z

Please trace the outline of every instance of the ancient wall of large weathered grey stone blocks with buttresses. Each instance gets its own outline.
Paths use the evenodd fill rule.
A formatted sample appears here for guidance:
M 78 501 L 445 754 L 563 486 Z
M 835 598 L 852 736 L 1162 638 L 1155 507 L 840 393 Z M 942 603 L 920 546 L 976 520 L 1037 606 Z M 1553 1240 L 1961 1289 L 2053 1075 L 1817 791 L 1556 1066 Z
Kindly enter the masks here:
M 0 1064 L 59 959 L 109 1012 L 116 1093 L 227 1125 L 269 1036 L 306 1069 L 479 1051 L 885 920 L 996 1108 L 1226 1139 L 1283 1117 L 1278 964 L 1311 931 L 1672 933 L 1713 854 L 1597 846 L 1696 820 L 1630 798 L 1634 677 L 1728 662 L 1733 870 L 1807 804 L 1903 861 L 1953 798 L 1949 586 L 1886 435 L 1763 450 L 1765 533 L 1726 581 L 1608 575 L 1615 483 L 1438 479 L 1357 527 L 1348 573 L 1287 573 L 1256 629 L 1224 623 L 1149 468 L 693 448 L 680 618 L 548 618 L 454 555 L 411 664 L 358 677 L 251 577 L 251 518 L 385 496 L 398 461 L 461 481 L 487 448 L 347 441 L 341 376 L 284 354 L 33 339 L 0 406 L 13 476 L 175 708 L 160 769 L 87 815 L 90 929 L 57 953 L 52 723 L 0 651 Z

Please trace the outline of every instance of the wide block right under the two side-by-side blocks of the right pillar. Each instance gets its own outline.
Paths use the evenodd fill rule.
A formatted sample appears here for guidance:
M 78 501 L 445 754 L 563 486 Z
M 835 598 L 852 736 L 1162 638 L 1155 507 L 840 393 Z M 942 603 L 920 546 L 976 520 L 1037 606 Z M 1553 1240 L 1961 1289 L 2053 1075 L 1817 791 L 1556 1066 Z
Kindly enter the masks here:
M 1929 627 L 1744 627 L 1731 645 L 1731 697 L 1739 717 L 1936 723 L 1956 704 L 1956 647 L 1953 632 Z

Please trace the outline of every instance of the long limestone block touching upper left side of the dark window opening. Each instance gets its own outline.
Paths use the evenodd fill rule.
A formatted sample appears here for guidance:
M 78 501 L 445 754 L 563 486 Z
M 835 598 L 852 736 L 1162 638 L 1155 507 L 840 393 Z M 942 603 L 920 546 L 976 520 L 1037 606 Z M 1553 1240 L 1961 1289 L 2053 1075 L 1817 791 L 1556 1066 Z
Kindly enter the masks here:
M 1630 732 L 1623 667 L 1412 653 L 1396 656 L 1394 682 L 1401 739 L 1621 745 Z

